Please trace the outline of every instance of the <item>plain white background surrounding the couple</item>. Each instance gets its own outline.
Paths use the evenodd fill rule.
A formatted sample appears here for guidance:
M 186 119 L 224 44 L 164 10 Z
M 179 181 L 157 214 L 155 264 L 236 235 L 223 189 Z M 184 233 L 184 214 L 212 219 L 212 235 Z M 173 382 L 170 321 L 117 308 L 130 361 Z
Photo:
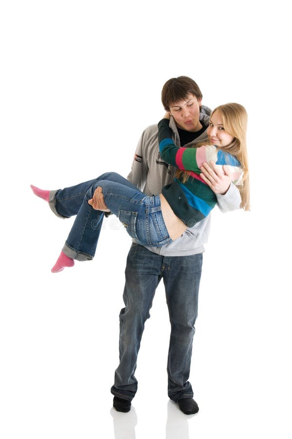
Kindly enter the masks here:
M 291 438 L 286 4 L 1 3 L 1 438 Z M 164 113 L 164 82 L 179 75 L 210 107 L 246 107 L 252 210 L 212 214 L 190 377 L 199 414 L 167 398 L 160 285 L 124 415 L 110 387 L 130 239 L 109 219 L 94 260 L 53 275 L 73 220 L 29 185 L 127 176 L 143 129 Z

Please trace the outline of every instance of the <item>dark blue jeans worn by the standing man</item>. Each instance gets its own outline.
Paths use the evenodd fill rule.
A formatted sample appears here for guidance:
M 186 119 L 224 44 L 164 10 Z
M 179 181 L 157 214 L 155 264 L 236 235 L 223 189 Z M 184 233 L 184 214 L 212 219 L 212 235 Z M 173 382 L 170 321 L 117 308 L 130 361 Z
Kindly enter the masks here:
M 137 379 L 134 373 L 144 325 L 150 317 L 155 290 L 163 279 L 171 323 L 167 362 L 168 396 L 174 401 L 193 397 L 188 378 L 198 313 L 201 267 L 201 253 L 164 257 L 141 245 L 132 244 L 125 272 L 125 308 L 120 312 L 120 363 L 111 388 L 113 395 L 128 400 L 135 396 Z M 152 394 L 155 394 L 155 389 Z

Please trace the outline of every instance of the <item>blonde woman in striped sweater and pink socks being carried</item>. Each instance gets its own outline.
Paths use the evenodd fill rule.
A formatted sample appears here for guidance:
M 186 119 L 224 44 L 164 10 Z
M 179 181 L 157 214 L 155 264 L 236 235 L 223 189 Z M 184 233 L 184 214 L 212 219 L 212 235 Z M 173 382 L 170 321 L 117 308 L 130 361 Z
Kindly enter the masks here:
M 208 127 L 209 144 L 195 148 L 178 148 L 171 139 L 168 115 L 158 124 L 158 140 L 163 160 L 178 167 L 174 181 L 162 193 L 148 197 L 116 173 L 106 173 L 57 191 L 31 186 L 33 192 L 47 200 L 61 218 L 76 215 L 73 227 L 52 272 L 74 265 L 74 259 L 92 259 L 104 212 L 92 208 L 95 191 L 102 190 L 109 210 L 124 224 L 132 239 L 142 245 L 161 246 L 179 238 L 201 221 L 217 203 L 210 187 L 200 177 L 204 162 L 227 166 L 232 181 L 238 185 L 240 207 L 249 210 L 249 179 L 246 151 L 247 113 L 237 103 L 215 108 Z

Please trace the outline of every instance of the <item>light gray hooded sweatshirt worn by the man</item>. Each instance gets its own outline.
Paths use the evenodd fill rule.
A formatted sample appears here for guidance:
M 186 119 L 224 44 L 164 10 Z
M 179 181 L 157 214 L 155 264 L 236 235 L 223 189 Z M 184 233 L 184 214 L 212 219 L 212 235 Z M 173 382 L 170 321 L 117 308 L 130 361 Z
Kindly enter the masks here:
M 210 108 L 202 105 L 200 121 L 205 126 L 209 125 L 210 114 Z M 173 131 L 174 143 L 181 147 L 177 126 L 172 116 L 169 127 Z M 196 140 L 183 146 L 192 147 L 207 139 L 207 130 L 205 130 Z M 176 167 L 165 163 L 160 157 L 157 125 L 148 126 L 139 140 L 128 180 L 145 195 L 158 195 L 163 186 L 173 181 L 176 170 Z M 240 194 L 233 183 L 225 195 L 216 195 L 217 205 L 221 212 L 239 209 Z M 194 227 L 187 229 L 180 238 L 169 244 L 162 247 L 146 246 L 146 248 L 161 256 L 189 256 L 201 253 L 204 251 L 203 244 L 208 241 L 210 225 L 211 215 L 198 222 Z

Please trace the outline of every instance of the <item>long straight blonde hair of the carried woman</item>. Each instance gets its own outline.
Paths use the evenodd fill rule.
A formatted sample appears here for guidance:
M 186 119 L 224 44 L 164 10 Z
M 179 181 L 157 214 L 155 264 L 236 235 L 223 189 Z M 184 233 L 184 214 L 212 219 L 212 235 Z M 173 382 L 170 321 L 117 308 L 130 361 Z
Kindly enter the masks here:
M 250 210 L 250 189 L 249 189 L 249 170 L 248 170 L 248 156 L 246 148 L 246 129 L 247 129 L 247 112 L 246 109 L 234 102 L 216 107 L 211 114 L 218 111 L 223 120 L 223 127 L 226 133 L 234 137 L 234 140 L 227 146 L 220 149 L 229 152 L 235 156 L 241 164 L 243 170 L 242 185 L 237 186 L 241 196 L 240 207 L 244 210 Z M 204 142 L 194 147 L 206 145 Z M 189 174 L 185 171 L 177 171 L 176 177 L 185 182 L 189 178 Z

